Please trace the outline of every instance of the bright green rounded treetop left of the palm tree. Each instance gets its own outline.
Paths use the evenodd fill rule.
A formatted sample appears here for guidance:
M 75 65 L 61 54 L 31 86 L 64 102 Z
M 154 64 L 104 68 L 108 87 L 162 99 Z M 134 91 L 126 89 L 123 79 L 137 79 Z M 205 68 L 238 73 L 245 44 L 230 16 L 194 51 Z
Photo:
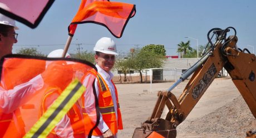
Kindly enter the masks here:
M 147 52 L 154 52 L 157 55 L 166 55 L 166 50 L 164 48 L 164 45 L 161 44 L 149 44 L 143 47 L 141 50 L 147 51 Z

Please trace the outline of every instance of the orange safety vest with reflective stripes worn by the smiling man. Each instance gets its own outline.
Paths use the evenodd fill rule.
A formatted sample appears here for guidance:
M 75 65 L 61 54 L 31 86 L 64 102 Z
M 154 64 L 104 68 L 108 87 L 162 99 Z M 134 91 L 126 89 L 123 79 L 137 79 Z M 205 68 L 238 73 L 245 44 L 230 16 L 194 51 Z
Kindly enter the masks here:
M 121 130 L 123 129 L 122 127 L 122 117 L 121 117 L 121 112 L 120 112 L 120 106 L 119 106 L 119 100 L 118 100 L 118 95 L 117 95 L 117 90 L 115 86 L 115 93 L 116 93 L 116 100 L 117 100 L 117 117 L 118 119 L 116 120 L 116 111 L 114 108 L 114 104 L 112 101 L 112 96 L 109 87 L 106 84 L 106 81 L 102 79 L 102 76 L 100 74 L 97 74 L 97 79 L 99 83 L 99 109 L 100 113 L 102 115 L 102 119 L 105 121 L 109 129 L 113 132 L 115 135 L 117 133 L 117 129 Z M 84 99 L 82 97 L 82 103 L 83 103 L 83 118 L 85 120 L 85 131 L 86 134 L 90 132 L 93 126 L 95 126 L 95 123 L 93 123 L 86 113 L 85 110 L 85 105 L 84 105 Z M 93 130 L 92 135 L 94 136 L 101 136 L 102 133 L 101 131 L 96 127 L 96 129 Z

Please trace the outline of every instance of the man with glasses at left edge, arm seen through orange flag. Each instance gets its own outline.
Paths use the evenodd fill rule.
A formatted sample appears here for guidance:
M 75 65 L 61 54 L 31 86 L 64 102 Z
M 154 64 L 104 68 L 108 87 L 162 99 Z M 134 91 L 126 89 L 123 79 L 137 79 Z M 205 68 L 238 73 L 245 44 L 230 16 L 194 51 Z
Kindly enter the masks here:
M 12 54 L 13 44 L 18 42 L 16 29 L 18 27 L 13 19 L 0 14 L 0 58 Z M 22 137 L 24 135 L 24 124 L 18 108 L 26 103 L 29 95 L 33 94 L 31 91 L 39 90 L 43 86 L 43 79 L 40 75 L 32 78 L 22 84 L 12 86 L 11 89 L 7 89 L 7 85 L 1 81 L 0 137 Z

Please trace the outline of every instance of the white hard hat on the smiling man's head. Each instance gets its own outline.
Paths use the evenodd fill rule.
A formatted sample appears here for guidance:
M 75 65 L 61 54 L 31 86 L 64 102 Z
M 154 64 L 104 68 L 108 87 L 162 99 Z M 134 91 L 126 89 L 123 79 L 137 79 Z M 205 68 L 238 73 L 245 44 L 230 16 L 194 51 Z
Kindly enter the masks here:
M 95 44 L 95 47 L 93 48 L 93 50 L 96 52 L 101 52 L 105 54 L 118 55 L 116 53 L 116 44 L 114 40 L 108 37 L 102 37 L 101 39 L 99 39 Z

